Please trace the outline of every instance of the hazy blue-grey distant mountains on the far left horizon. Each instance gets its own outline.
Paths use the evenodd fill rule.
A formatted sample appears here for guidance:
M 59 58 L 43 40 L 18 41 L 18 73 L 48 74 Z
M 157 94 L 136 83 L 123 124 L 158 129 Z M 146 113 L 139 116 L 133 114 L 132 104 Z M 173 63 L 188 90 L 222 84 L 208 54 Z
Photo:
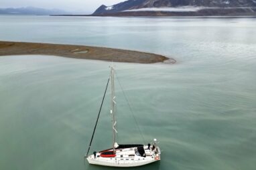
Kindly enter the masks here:
M 0 15 L 59 15 L 67 14 L 66 11 L 60 9 L 42 9 L 37 7 L 21 7 L 21 8 L 0 8 Z

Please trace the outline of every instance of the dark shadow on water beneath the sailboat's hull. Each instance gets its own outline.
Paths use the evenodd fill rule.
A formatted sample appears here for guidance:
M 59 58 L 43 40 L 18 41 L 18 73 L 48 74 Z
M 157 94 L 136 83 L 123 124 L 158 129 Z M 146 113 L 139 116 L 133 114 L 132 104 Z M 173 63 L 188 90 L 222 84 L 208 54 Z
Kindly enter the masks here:
M 100 166 L 100 165 L 90 165 L 90 164 L 87 164 L 86 167 L 85 167 L 85 170 L 91 170 L 91 169 L 106 169 L 106 170 L 110 170 L 110 169 L 115 169 L 115 170 L 118 170 L 118 169 L 133 169 L 133 170 L 141 170 L 141 169 L 159 169 L 160 167 L 160 163 L 161 161 L 157 161 L 155 163 L 149 163 L 147 165 L 143 165 L 141 167 L 104 167 L 104 166 Z

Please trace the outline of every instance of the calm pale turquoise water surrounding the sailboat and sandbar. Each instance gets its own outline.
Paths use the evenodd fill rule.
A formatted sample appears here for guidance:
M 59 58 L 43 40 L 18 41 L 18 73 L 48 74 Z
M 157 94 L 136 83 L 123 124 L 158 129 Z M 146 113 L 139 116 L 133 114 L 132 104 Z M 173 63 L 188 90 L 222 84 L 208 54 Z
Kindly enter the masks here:
M 135 169 L 255 169 L 256 19 L 0 16 L 0 25 L 6 41 L 117 47 L 177 60 L 114 63 L 145 141 L 157 138 L 162 149 L 159 163 Z M 0 169 L 84 169 L 109 64 L 0 57 Z M 92 151 L 111 145 L 108 99 Z M 118 83 L 117 104 L 119 143 L 143 142 Z

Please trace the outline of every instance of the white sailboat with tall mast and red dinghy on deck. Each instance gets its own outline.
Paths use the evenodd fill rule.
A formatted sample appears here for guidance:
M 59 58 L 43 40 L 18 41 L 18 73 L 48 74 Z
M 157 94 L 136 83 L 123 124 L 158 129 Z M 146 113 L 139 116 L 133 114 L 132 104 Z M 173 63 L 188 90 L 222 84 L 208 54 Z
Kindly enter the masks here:
M 112 117 L 112 128 L 113 128 L 113 145 L 110 149 L 105 149 L 103 151 L 94 151 L 92 155 L 88 155 L 90 147 L 92 144 L 92 139 L 94 137 L 94 132 L 97 127 L 99 120 L 99 115 L 101 113 L 101 108 L 103 106 L 103 101 L 105 99 L 107 87 L 103 96 L 99 114 L 97 117 L 96 124 L 94 126 L 94 131 L 92 133 L 92 138 L 90 139 L 90 145 L 88 147 L 87 154 L 84 158 L 87 159 L 88 163 L 93 165 L 103 165 L 109 167 L 138 167 L 153 163 L 160 160 L 161 151 L 157 145 L 157 140 L 153 139 L 152 143 L 146 145 L 143 144 L 125 144 L 119 145 L 116 140 L 117 133 L 117 120 L 115 117 L 115 85 L 114 85 L 114 74 L 115 69 L 111 67 L 110 77 L 107 81 L 107 87 L 109 85 L 109 80 L 111 80 L 111 117 Z

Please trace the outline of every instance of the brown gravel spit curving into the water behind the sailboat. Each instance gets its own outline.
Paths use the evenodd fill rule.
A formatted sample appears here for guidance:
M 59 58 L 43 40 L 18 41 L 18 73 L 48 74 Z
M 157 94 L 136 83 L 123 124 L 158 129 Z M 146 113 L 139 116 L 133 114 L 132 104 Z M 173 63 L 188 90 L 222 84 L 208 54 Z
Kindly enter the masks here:
M 0 41 L 0 56 L 4 55 L 56 55 L 74 59 L 94 59 L 123 63 L 160 63 L 170 60 L 170 63 L 176 63 L 174 59 L 163 55 L 124 49 L 84 45 Z

